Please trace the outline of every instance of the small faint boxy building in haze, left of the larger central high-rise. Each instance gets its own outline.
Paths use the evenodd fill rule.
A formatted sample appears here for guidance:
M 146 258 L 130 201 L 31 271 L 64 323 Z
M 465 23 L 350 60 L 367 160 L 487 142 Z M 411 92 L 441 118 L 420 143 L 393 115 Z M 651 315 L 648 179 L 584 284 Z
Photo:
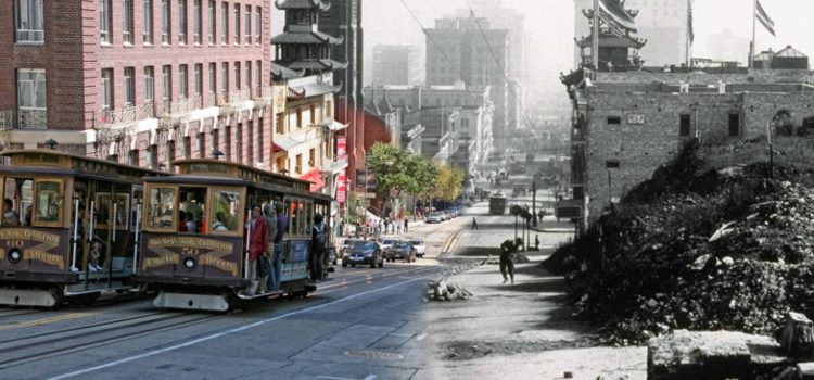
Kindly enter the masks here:
M 400 45 L 373 47 L 373 86 L 416 86 L 423 78 L 420 50 Z

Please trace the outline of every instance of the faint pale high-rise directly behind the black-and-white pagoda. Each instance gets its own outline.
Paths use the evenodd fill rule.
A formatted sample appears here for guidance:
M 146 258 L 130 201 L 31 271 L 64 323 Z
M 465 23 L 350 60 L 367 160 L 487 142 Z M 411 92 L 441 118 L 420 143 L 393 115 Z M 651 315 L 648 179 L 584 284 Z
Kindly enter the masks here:
M 647 40 L 639 51 L 645 66 L 681 65 L 691 56 L 690 12 L 694 0 L 627 0 L 626 9 L 635 9 L 636 36 Z M 583 11 L 594 9 L 594 0 L 574 0 L 574 37 L 590 35 L 589 20 Z M 578 65 L 580 48 L 574 50 Z

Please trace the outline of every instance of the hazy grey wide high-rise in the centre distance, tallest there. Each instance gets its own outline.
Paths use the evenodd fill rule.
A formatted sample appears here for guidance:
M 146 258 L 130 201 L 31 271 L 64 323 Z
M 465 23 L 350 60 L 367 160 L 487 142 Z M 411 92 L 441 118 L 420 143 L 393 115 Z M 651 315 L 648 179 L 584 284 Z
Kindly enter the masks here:
M 510 104 L 509 31 L 492 29 L 486 18 L 442 18 L 427 29 L 427 85 L 449 86 L 463 81 L 470 87 L 491 88 L 495 104 L 493 136 L 496 148 L 508 147 L 517 127 Z M 485 38 L 484 38 L 485 36 Z

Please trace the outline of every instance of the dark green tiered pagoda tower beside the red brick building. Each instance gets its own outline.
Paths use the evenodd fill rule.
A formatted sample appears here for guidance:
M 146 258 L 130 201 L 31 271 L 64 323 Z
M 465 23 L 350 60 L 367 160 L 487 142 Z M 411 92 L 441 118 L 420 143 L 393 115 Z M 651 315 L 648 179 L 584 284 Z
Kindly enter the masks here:
M 283 33 L 271 38 L 276 58 L 271 63 L 275 80 L 321 75 L 344 69 L 347 63 L 331 59 L 331 49 L 343 38 L 319 31 L 319 16 L 331 3 L 325 0 L 278 0 L 277 9 L 285 12 Z

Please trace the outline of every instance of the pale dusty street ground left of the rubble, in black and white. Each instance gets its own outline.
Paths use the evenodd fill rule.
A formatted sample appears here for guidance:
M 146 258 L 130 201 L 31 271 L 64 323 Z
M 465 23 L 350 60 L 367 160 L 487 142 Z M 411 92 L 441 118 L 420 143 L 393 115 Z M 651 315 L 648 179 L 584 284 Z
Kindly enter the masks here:
M 517 265 L 514 284 L 503 284 L 489 264 L 447 280 L 473 297 L 427 305 L 437 359 L 417 378 L 562 379 L 568 371 L 574 379 L 645 379 L 647 349 L 596 346 L 592 328 L 562 302 L 563 279 L 543 269 L 542 257 L 529 258 Z

